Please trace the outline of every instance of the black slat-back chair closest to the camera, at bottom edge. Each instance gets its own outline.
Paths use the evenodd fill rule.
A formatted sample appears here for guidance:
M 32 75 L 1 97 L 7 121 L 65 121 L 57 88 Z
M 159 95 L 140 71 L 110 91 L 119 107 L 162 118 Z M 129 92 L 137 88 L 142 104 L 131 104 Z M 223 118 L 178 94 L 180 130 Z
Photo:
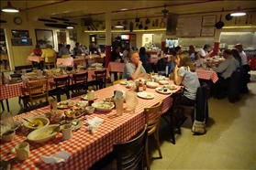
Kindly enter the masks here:
M 114 144 L 117 156 L 117 170 L 144 169 L 145 147 L 148 138 L 147 125 L 138 137 L 126 142 Z

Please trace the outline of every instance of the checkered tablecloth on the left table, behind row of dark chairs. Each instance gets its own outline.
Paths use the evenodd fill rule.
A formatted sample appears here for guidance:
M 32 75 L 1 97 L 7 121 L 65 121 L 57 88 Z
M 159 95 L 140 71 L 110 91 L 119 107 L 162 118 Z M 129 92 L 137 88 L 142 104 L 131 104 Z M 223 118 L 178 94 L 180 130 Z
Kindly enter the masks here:
M 105 70 L 104 69 L 96 69 L 96 70 Z M 80 73 L 86 72 L 88 71 L 88 81 L 90 80 L 95 80 L 95 70 L 83 70 L 81 69 Z M 66 75 L 63 75 L 62 77 L 64 77 Z M 72 74 L 71 74 L 72 76 Z M 61 76 L 60 76 L 61 77 Z M 109 78 L 109 72 L 106 69 L 106 77 Z M 49 79 L 49 82 L 54 82 L 53 78 Z M 72 84 L 72 80 L 71 80 L 71 84 Z M 10 99 L 10 98 L 15 98 L 18 96 L 23 95 L 22 89 L 26 88 L 26 83 L 25 82 L 20 82 L 20 83 L 16 83 L 16 84 L 9 84 L 9 85 L 1 85 L 0 86 L 0 100 L 6 100 L 6 99 Z

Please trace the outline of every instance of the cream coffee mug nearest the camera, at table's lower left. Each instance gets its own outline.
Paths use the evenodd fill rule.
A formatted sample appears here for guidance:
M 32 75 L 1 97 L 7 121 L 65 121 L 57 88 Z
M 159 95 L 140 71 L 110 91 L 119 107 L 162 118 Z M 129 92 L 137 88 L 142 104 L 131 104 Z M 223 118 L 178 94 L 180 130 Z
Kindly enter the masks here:
M 15 150 L 17 154 L 17 159 L 20 161 L 27 159 L 30 155 L 29 143 L 19 143 L 15 146 Z

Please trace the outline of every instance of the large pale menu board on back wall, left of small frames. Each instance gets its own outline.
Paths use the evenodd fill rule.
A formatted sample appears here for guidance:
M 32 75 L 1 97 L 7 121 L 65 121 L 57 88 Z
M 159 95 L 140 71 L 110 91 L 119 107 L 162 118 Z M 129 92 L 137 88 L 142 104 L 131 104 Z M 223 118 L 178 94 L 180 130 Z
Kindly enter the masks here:
M 202 16 L 199 17 L 179 17 L 177 27 L 177 37 L 200 37 Z

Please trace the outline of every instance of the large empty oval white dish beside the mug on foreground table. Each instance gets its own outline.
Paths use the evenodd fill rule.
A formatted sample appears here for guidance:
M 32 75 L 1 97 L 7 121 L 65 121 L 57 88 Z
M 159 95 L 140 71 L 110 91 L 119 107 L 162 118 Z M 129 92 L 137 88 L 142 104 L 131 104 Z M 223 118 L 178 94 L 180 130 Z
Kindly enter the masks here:
M 61 129 L 55 130 L 53 133 L 51 133 L 54 129 L 56 129 L 59 126 L 59 124 L 52 124 L 49 126 L 44 126 L 42 128 L 39 128 L 32 133 L 28 134 L 28 140 L 32 141 L 34 143 L 44 143 L 47 141 L 50 141 L 50 139 L 55 138 L 58 131 Z

